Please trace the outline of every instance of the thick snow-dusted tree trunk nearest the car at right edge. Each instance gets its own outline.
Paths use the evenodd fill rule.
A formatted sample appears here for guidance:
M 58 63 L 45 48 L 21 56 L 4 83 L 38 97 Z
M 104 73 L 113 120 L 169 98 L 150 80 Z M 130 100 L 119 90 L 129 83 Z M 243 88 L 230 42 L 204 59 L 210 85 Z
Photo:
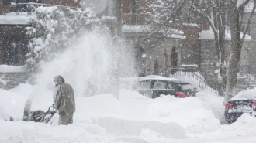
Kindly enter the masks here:
M 226 96 L 224 103 L 230 100 L 235 95 L 235 86 L 237 84 L 237 66 L 240 62 L 241 53 L 241 39 L 240 39 L 240 26 L 239 26 L 239 11 L 237 9 L 237 1 L 229 0 L 229 17 L 230 17 L 230 30 L 231 30 L 231 49 L 230 60 L 227 70 L 227 85 Z

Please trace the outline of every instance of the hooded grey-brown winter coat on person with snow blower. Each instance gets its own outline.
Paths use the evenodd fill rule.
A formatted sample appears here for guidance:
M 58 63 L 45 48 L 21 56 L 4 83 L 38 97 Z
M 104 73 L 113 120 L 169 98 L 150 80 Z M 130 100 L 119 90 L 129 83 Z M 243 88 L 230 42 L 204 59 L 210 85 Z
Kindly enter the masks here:
M 63 77 L 55 77 L 54 106 L 59 114 L 68 114 L 75 111 L 74 90 L 70 84 L 64 83 Z

